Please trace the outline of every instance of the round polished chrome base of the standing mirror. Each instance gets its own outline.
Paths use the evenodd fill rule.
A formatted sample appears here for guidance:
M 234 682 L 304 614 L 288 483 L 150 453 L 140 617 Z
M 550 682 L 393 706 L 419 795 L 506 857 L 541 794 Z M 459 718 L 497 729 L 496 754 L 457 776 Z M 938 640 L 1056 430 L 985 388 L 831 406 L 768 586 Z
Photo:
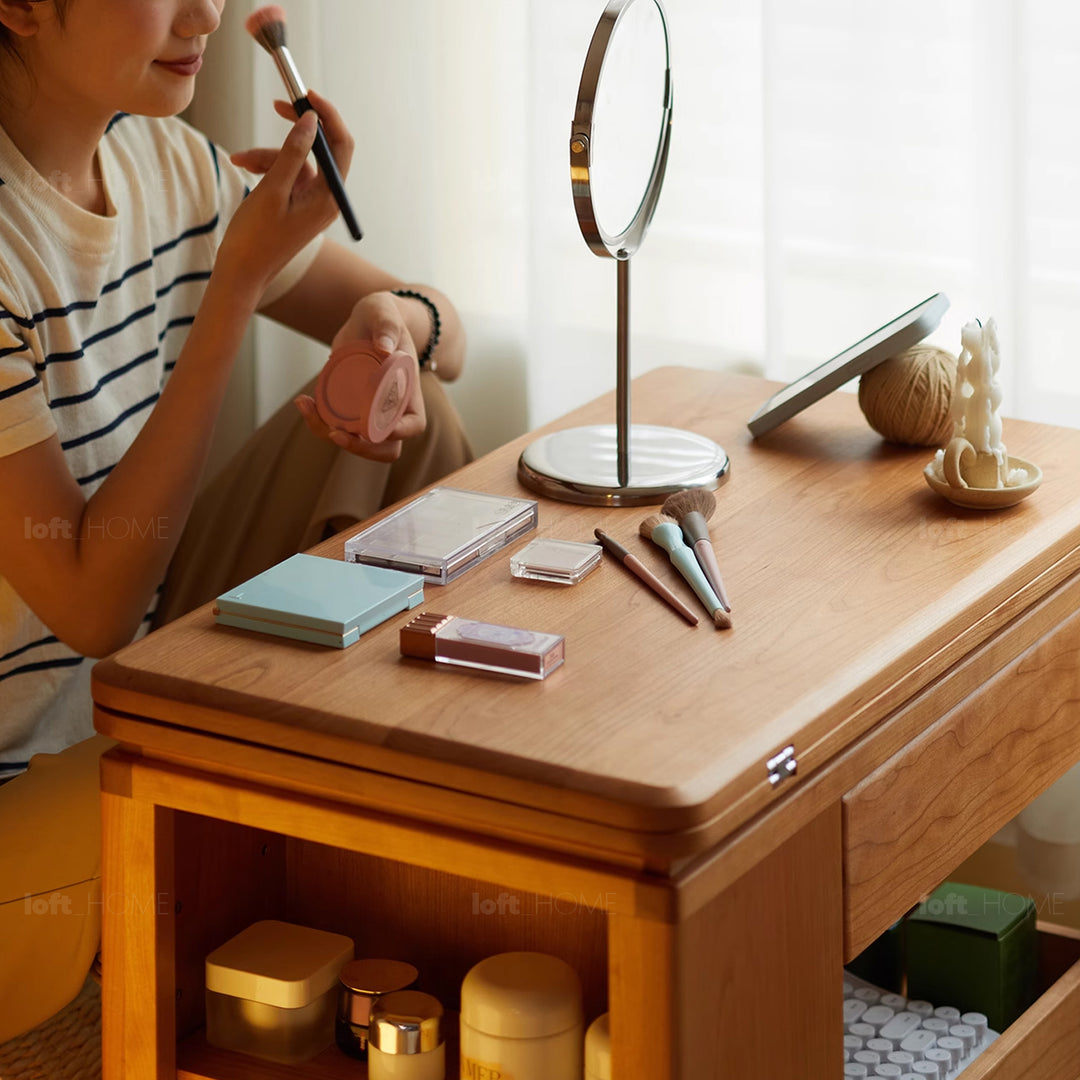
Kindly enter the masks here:
M 531 491 L 589 507 L 645 507 L 688 487 L 718 487 L 730 460 L 711 438 L 678 428 L 631 424 L 630 483 L 618 481 L 617 428 L 595 424 L 543 435 L 517 461 Z

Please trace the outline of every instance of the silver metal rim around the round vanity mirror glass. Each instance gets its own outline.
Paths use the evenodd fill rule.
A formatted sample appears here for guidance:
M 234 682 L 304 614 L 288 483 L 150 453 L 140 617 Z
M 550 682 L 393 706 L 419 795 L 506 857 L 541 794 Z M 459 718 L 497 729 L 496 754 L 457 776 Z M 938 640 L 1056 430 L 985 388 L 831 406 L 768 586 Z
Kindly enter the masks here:
M 607 55 L 611 36 L 619 25 L 619 19 L 635 2 L 653 3 L 660 13 L 660 23 L 664 31 L 664 54 L 666 60 L 664 69 L 663 113 L 660 123 L 660 136 L 657 144 L 657 156 L 652 162 L 652 172 L 649 176 L 645 195 L 630 225 L 622 232 L 612 234 L 606 232 L 600 227 L 596 220 L 596 211 L 593 206 L 590 177 L 593 111 L 596 106 L 596 92 L 604 72 L 604 59 Z M 667 32 L 667 15 L 664 12 L 661 0 L 609 0 L 593 33 L 592 42 L 589 45 L 589 53 L 585 56 L 585 64 L 581 72 L 581 83 L 578 87 L 578 105 L 575 110 L 573 122 L 570 126 L 570 189 L 573 194 L 573 208 L 578 215 L 578 225 L 581 227 L 581 234 L 585 238 L 585 243 L 597 255 L 610 256 L 616 259 L 629 259 L 637 251 L 642 240 L 645 238 L 645 232 L 652 220 L 657 202 L 660 199 L 664 171 L 667 167 L 673 97 L 671 38 Z

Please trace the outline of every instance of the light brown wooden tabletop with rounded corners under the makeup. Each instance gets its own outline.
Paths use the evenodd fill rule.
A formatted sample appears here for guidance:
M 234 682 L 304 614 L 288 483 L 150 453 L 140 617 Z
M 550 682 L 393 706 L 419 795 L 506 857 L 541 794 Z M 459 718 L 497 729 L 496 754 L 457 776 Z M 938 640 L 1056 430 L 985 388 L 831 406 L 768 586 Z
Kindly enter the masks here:
M 1042 486 L 1009 510 L 963 510 L 926 484 L 932 451 L 883 443 L 850 393 L 752 440 L 746 419 L 775 389 L 683 368 L 634 384 L 637 422 L 730 455 L 711 525 L 731 630 L 704 611 L 689 626 L 607 556 L 573 586 L 512 578 L 532 536 L 591 540 L 602 526 L 699 606 L 638 536 L 648 509 L 541 499 L 536 534 L 426 586 L 423 609 L 564 634 L 566 663 L 546 680 L 403 659 L 408 613 L 337 650 L 218 626 L 207 606 L 96 665 L 98 727 L 132 741 L 113 716 L 127 714 L 583 820 L 693 829 L 767 786 L 779 750 L 842 751 L 895 707 L 893 691 L 918 691 L 1080 557 L 1080 431 L 1005 420 Z M 608 395 L 543 430 L 612 418 Z M 531 497 L 515 475 L 531 437 L 444 483 Z M 348 535 L 315 551 L 340 558 Z M 154 738 L 147 726 L 136 741 L 152 751 Z

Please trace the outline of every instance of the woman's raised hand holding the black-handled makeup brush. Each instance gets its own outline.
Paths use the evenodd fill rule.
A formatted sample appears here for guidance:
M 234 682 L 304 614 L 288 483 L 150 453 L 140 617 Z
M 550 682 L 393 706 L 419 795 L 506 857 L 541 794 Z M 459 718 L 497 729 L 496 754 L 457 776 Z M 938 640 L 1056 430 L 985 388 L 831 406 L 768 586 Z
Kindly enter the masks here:
M 308 99 L 312 109 L 295 121 L 280 149 L 244 150 L 230 159 L 242 168 L 261 173 L 262 178 L 232 215 L 218 265 L 231 280 L 251 283 L 259 294 L 339 213 L 309 153 L 321 120 L 345 177 L 352 160 L 352 136 L 329 102 L 314 92 L 309 92 Z M 295 117 L 286 103 L 279 103 L 278 111 Z

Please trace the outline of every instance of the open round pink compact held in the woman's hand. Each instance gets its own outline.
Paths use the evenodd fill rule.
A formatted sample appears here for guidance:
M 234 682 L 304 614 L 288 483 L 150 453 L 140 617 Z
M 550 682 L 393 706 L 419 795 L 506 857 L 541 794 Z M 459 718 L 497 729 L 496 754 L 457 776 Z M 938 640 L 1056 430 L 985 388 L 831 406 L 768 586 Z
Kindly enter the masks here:
M 416 379 L 413 357 L 382 357 L 372 341 L 349 341 L 335 349 L 315 383 L 319 415 L 330 428 L 381 443 L 408 405 Z

